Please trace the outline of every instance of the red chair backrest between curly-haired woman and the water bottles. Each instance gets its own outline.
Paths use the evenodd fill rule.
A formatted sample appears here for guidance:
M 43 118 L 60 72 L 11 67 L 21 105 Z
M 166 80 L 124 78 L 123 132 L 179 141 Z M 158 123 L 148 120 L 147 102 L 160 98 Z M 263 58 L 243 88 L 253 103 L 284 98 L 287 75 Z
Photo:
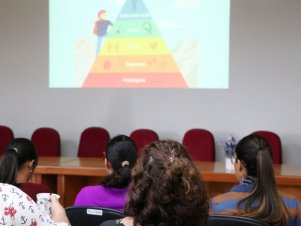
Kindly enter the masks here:
M 210 131 L 190 129 L 184 134 L 182 144 L 187 147 L 193 160 L 215 161 L 214 137 Z

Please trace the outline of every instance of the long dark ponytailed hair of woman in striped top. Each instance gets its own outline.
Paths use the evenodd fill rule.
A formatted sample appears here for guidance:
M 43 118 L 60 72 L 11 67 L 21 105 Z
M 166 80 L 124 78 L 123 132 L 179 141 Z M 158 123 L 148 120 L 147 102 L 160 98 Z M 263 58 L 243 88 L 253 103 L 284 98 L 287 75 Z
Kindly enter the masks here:
M 270 225 L 288 225 L 288 210 L 277 189 L 269 143 L 251 134 L 238 142 L 235 153 L 246 168 L 247 175 L 257 178 L 253 191 L 238 203 L 240 215 Z

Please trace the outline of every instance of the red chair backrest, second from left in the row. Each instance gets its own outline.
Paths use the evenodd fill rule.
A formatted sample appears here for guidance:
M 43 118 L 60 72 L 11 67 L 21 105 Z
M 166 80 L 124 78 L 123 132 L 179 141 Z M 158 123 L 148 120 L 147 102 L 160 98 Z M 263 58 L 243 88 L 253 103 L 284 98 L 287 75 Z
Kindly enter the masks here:
M 61 155 L 60 134 L 53 128 L 41 127 L 36 129 L 31 136 L 31 142 L 39 156 Z

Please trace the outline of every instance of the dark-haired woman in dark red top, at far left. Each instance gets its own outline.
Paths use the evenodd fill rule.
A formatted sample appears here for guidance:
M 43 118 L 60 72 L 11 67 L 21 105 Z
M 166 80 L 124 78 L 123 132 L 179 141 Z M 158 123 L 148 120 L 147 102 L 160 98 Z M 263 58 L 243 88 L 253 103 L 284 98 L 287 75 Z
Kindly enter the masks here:
M 6 146 L 0 163 L 0 182 L 19 187 L 34 201 L 36 195 L 50 192 L 43 184 L 29 183 L 38 165 L 38 154 L 34 145 L 26 138 L 15 138 Z

